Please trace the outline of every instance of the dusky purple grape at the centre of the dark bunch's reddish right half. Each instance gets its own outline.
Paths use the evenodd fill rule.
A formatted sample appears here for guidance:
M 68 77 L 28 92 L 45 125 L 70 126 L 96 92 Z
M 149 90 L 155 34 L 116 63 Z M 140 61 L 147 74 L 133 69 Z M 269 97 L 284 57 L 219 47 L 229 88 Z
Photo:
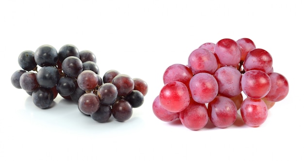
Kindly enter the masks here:
M 115 103 L 118 90 L 112 83 L 104 83 L 97 89 L 98 98 L 103 105 L 112 105 Z

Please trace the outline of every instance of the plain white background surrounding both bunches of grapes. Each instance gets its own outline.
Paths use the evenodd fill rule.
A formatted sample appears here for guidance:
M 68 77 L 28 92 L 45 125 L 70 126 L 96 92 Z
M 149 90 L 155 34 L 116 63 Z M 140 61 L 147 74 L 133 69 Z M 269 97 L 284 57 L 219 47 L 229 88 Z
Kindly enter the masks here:
M 1 161 L 300 161 L 304 160 L 302 0 L 2 0 L 0 2 Z M 205 42 L 248 37 L 273 58 L 288 96 L 256 128 L 211 124 L 191 131 L 152 112 L 172 64 Z M 144 79 L 149 92 L 130 120 L 100 124 L 60 96 L 42 110 L 11 74 L 18 55 L 50 44 L 73 44 L 111 69 Z M 302 76 L 303 77 L 303 76 Z

